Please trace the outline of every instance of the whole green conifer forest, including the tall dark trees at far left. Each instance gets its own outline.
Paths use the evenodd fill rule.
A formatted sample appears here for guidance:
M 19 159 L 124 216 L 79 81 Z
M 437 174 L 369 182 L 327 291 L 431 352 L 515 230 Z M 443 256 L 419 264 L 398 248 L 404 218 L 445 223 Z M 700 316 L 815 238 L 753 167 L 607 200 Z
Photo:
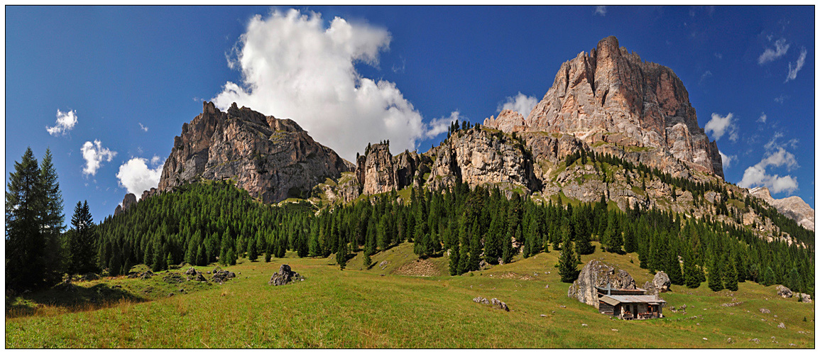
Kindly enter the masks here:
M 12 289 L 56 284 L 63 274 L 121 275 L 138 264 L 165 270 L 184 263 L 233 265 L 239 257 L 271 261 L 288 250 L 300 257 L 335 253 L 342 267 L 352 253 L 363 252 L 367 267 L 370 256 L 399 243 L 413 243 L 422 258 L 448 257 L 451 275 L 508 263 L 518 252 L 525 258 L 561 252 L 556 266 L 563 281 L 572 282 L 580 255 L 594 252 L 591 242 L 598 241 L 605 252 L 635 252 L 640 267 L 663 270 L 676 285 L 696 288 L 708 279 L 718 291 L 749 280 L 814 293 L 813 243 L 768 243 L 733 225 L 637 204 L 624 212 L 608 207 L 604 196 L 594 203 L 544 205 L 457 183 L 439 191 L 410 188 L 404 200 L 393 191 L 317 211 L 309 202 L 265 205 L 230 182 L 204 182 L 148 197 L 100 225 L 88 204 L 78 202 L 71 229 L 62 232 L 50 152 L 38 163 L 28 150 L 15 166 L 6 195 Z M 777 223 L 799 228 L 785 217 Z

